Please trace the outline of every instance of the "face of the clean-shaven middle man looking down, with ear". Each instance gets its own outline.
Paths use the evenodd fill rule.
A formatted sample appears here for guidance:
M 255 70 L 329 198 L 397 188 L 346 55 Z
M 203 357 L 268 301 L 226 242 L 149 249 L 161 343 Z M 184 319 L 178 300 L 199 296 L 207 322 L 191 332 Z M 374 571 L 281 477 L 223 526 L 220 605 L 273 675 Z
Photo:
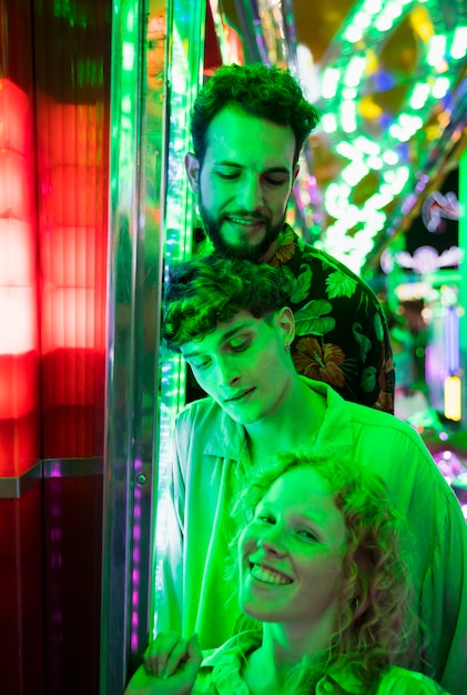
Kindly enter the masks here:
M 284 349 L 293 340 L 290 309 L 278 311 L 272 325 L 240 311 L 213 333 L 181 346 L 204 391 L 243 425 L 274 414 L 295 374 Z

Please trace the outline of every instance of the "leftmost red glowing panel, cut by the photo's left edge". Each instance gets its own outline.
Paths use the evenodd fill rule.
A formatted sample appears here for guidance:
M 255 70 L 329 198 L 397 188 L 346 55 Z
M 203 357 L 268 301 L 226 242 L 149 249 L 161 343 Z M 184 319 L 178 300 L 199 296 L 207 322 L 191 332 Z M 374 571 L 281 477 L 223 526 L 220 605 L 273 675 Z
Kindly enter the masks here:
M 30 98 L 0 80 L 0 475 L 40 456 L 37 239 Z

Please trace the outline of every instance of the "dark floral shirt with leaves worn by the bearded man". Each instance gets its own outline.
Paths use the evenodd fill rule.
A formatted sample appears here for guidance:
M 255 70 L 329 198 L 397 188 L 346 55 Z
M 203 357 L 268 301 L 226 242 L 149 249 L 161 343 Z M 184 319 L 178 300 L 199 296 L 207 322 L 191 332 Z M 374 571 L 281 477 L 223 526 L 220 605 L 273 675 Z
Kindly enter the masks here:
M 271 265 L 290 288 L 300 374 L 346 401 L 394 412 L 394 363 L 386 316 L 373 290 L 343 263 L 285 225 Z

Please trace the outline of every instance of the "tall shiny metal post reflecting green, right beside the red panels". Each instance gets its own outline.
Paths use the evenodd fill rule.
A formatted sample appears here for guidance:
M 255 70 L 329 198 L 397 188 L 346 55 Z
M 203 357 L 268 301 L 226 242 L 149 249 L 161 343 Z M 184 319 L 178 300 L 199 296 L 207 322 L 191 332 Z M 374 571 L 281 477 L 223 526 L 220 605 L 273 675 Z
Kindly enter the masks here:
M 113 3 L 101 694 L 148 643 L 167 11 Z

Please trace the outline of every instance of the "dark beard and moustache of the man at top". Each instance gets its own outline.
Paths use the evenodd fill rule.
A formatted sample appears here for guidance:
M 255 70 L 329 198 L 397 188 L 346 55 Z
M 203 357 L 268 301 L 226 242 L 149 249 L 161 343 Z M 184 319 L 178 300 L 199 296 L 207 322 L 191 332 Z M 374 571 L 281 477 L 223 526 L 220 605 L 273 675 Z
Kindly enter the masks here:
M 266 253 L 271 244 L 276 241 L 285 223 L 285 212 L 280 222 L 274 225 L 271 224 L 267 219 L 257 215 L 257 219 L 263 222 L 265 226 L 264 239 L 254 246 L 252 246 L 247 241 L 241 241 L 236 244 L 232 244 L 222 235 L 221 231 L 222 223 L 227 220 L 230 215 L 220 215 L 219 218 L 214 218 L 203 205 L 201 195 L 199 202 L 204 232 L 213 244 L 216 253 L 227 259 L 242 259 L 243 261 L 252 261 L 256 263 Z M 242 216 L 241 213 L 231 214 L 232 216 Z

